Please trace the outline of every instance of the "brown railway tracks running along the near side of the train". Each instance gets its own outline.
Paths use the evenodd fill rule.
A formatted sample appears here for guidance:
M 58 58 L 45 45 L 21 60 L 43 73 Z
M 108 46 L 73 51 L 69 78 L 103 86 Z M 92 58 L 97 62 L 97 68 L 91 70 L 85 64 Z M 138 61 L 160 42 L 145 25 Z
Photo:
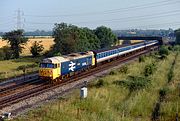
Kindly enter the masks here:
M 51 89 L 55 89 L 57 87 L 63 86 L 63 85 L 67 85 L 69 83 L 75 82 L 77 80 L 86 78 L 88 76 L 97 74 L 103 70 L 115 67 L 117 65 L 119 65 L 120 63 L 126 62 L 128 60 L 132 60 L 134 58 L 139 57 L 140 55 L 146 54 L 148 53 L 148 50 L 144 50 L 135 54 L 132 54 L 131 56 L 126 56 L 123 58 L 120 58 L 118 60 L 114 60 L 112 62 L 100 65 L 98 67 L 92 68 L 89 71 L 84 71 L 78 75 L 72 76 L 68 79 L 65 79 L 63 83 L 57 84 L 57 85 L 51 85 L 51 84 L 47 84 L 47 83 L 42 83 L 38 86 L 32 86 L 32 88 L 27 88 L 26 90 L 22 90 L 22 91 L 14 91 L 14 93 L 10 93 L 11 91 L 9 91 L 9 93 L 6 93 L 6 91 L 4 93 L 2 93 L 2 96 L 0 97 L 0 109 L 3 109 L 4 107 L 10 106 L 14 103 L 17 103 L 19 101 L 25 100 L 27 98 L 33 97 L 33 96 L 37 96 L 39 94 L 42 94 L 48 90 Z M 3 94 L 6 94 L 3 96 Z

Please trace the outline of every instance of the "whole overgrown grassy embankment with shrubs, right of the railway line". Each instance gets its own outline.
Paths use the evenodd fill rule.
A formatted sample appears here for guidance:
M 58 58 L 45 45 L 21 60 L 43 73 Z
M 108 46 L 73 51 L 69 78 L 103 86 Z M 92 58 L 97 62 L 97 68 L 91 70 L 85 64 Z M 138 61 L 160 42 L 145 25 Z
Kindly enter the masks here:
M 79 90 L 75 90 L 15 120 L 175 121 L 180 115 L 180 55 L 174 50 L 168 53 L 164 59 L 159 53 L 144 56 L 144 61 L 95 79 L 88 86 L 86 99 L 80 99 Z M 169 73 L 173 73 L 171 81 Z

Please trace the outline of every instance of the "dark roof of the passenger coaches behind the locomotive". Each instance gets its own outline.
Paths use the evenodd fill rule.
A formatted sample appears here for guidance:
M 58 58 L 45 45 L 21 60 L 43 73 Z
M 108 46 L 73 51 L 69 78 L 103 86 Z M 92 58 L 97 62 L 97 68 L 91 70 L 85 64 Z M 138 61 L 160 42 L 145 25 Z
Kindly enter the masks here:
M 140 43 L 144 43 L 144 42 L 137 42 L 137 43 L 133 43 L 133 44 L 123 44 L 123 45 L 118 45 L 118 46 L 112 46 L 110 48 L 103 48 L 103 49 L 99 49 L 99 50 L 93 50 L 93 52 L 100 53 L 100 52 L 113 50 L 113 49 L 117 49 L 117 48 L 121 48 L 121 47 L 127 47 L 127 46 L 130 46 L 130 45 L 136 45 L 136 44 L 140 44 Z

